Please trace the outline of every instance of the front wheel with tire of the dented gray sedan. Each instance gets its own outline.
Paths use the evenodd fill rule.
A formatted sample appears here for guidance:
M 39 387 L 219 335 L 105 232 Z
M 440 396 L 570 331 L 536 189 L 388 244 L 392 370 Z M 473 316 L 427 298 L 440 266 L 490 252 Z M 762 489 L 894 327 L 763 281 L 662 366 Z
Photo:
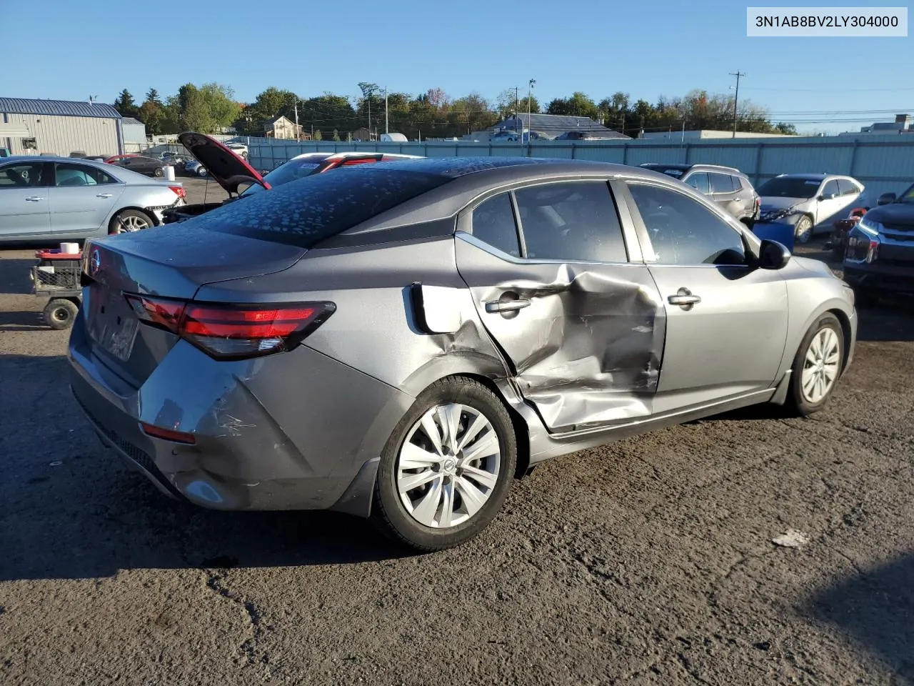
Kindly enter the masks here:
M 805 417 L 828 403 L 844 368 L 845 334 L 831 313 L 820 316 L 802 338 L 793 358 L 788 406 Z

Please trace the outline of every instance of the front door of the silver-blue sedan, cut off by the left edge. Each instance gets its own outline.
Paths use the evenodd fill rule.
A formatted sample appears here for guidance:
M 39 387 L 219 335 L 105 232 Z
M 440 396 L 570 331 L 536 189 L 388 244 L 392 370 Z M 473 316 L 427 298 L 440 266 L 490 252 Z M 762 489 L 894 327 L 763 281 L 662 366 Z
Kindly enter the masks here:
M 0 167 L 0 236 L 48 233 L 49 175 L 45 162 L 14 162 Z

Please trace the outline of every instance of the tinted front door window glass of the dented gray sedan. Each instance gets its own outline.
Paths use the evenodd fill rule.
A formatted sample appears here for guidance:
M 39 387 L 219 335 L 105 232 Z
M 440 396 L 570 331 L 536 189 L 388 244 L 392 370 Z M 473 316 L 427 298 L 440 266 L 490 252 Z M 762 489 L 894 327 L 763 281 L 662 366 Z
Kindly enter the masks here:
M 694 198 L 669 188 L 629 184 L 658 264 L 745 264 L 742 236 Z

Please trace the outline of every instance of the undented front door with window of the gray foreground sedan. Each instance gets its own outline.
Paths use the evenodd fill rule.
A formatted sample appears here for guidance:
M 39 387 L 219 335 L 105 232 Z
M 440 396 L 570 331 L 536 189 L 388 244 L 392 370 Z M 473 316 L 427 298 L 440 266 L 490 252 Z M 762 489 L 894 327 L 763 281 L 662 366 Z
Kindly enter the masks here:
M 696 199 L 650 183 L 628 188 L 666 308 L 655 413 L 770 388 L 787 339 L 781 274 L 749 266 L 739 230 Z

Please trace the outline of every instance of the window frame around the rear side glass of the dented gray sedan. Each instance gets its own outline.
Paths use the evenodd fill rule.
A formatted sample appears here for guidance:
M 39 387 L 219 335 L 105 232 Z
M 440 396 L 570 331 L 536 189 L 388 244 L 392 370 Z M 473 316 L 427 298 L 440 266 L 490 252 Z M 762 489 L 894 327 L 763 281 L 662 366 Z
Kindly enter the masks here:
M 547 186 L 557 183 L 580 183 L 580 182 L 601 182 L 606 184 L 607 191 L 609 192 L 610 199 L 612 204 L 615 206 L 616 215 L 619 218 L 619 225 L 622 229 L 622 245 L 625 249 L 625 253 L 628 257 L 626 262 L 603 262 L 598 260 L 561 260 L 556 258 L 530 258 L 526 254 L 526 239 L 524 238 L 524 227 L 523 222 L 520 219 L 520 212 L 517 208 L 517 199 L 515 198 L 515 191 L 524 190 L 526 188 L 536 188 L 537 186 Z M 513 255 L 510 255 L 506 252 L 502 252 L 494 245 L 489 245 L 480 239 L 474 239 L 471 241 L 477 247 L 487 246 L 486 252 L 490 252 L 501 259 L 504 259 L 507 262 L 512 263 L 521 263 L 521 264 L 563 264 L 563 263 L 585 263 L 585 264 L 637 264 L 643 263 L 642 257 L 642 245 L 639 237 L 637 235 L 636 229 L 632 221 L 632 214 L 629 211 L 628 202 L 624 199 L 620 199 L 619 192 L 620 188 L 624 189 L 625 184 L 618 180 L 618 177 L 615 176 L 606 176 L 606 175 L 587 175 L 582 174 L 575 177 L 543 177 L 537 178 L 534 181 L 529 179 L 525 181 L 516 181 L 513 183 L 505 184 L 504 186 L 499 186 L 498 188 L 490 188 L 484 193 L 480 194 L 476 198 L 468 203 L 457 215 L 457 232 L 473 235 L 473 209 L 476 209 L 478 206 L 482 205 L 486 200 L 494 198 L 494 196 L 500 195 L 502 193 L 509 193 L 511 197 L 512 209 L 515 212 L 515 226 L 518 231 L 518 238 L 521 243 L 521 257 L 515 258 Z

